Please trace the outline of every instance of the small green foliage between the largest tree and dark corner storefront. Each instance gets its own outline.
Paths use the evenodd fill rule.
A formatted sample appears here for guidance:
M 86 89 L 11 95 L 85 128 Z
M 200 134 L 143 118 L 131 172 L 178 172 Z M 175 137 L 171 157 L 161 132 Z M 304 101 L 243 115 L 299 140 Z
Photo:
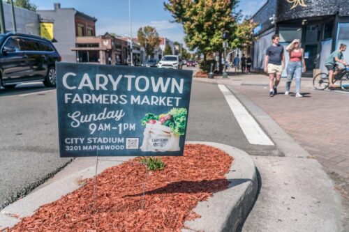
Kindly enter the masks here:
M 252 45 L 253 29 L 257 23 L 252 20 L 245 19 L 235 31 L 235 38 L 230 42 L 230 47 L 244 49 Z

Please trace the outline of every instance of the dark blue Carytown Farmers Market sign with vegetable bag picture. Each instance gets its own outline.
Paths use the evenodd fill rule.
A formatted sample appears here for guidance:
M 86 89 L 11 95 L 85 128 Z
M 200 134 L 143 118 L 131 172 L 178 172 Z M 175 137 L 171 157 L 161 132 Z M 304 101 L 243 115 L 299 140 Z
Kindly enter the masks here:
M 61 157 L 183 155 L 190 70 L 56 63 Z

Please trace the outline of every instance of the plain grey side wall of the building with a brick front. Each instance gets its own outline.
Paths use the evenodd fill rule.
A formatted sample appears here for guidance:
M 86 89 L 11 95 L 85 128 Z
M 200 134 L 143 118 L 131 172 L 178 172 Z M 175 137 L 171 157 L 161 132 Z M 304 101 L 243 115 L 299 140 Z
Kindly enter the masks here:
M 52 21 L 54 47 L 57 48 L 64 62 L 76 62 L 76 54 L 71 49 L 75 47 L 75 13 L 73 8 L 58 8 L 56 10 L 38 10 L 43 20 Z

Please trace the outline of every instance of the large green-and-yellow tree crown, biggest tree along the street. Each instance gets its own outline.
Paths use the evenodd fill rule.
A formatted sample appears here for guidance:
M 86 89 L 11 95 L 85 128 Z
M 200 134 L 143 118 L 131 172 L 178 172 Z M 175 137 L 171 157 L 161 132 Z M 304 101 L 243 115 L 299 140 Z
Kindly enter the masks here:
M 175 22 L 183 24 L 186 46 L 206 55 L 223 51 L 223 31 L 230 33 L 230 42 L 237 28 L 234 13 L 237 0 L 169 0 L 165 10 L 172 13 Z

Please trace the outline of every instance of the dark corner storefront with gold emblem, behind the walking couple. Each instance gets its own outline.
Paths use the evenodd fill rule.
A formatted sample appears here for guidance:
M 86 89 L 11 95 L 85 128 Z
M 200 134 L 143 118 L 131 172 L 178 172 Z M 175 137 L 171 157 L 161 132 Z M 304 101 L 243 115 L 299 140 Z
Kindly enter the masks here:
M 279 33 L 281 45 L 287 47 L 299 38 L 304 49 L 307 72 L 314 69 L 325 71 L 325 60 L 341 43 L 349 46 L 348 0 L 269 0 L 255 15 L 258 26 L 253 31 L 253 68 L 264 68 L 267 47 L 272 36 Z M 273 23 L 274 22 L 274 23 Z M 288 53 L 285 52 L 286 61 Z M 344 54 L 349 61 L 349 49 Z M 283 76 L 285 76 L 285 70 Z

